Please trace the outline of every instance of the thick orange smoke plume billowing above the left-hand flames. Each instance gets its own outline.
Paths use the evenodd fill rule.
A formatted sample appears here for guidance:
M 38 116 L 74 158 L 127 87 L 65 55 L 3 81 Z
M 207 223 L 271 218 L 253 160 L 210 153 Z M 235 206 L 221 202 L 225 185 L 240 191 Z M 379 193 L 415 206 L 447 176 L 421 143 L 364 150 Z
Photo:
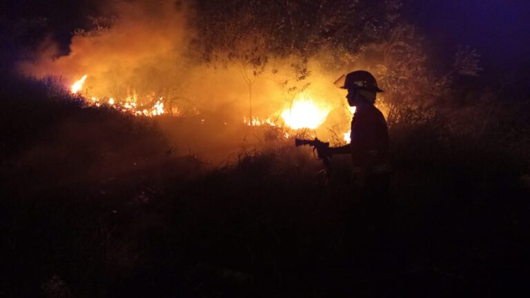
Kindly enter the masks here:
M 66 84 L 88 74 L 84 87 L 97 97 L 125 95 L 131 88 L 159 92 L 181 79 L 189 36 L 184 8 L 173 1 L 112 3 L 105 9 L 115 17 L 75 34 L 70 54 L 55 57 L 55 47 L 48 46 L 21 69 L 37 77 L 63 77 Z

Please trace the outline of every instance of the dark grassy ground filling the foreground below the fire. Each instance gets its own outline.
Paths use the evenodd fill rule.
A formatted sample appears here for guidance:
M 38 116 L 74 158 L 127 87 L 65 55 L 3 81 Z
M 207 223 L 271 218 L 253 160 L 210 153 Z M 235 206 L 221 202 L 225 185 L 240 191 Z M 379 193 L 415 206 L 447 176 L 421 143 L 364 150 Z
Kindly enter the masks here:
M 437 123 L 393 126 L 391 204 L 365 210 L 346 184 L 315 176 L 322 165 L 307 151 L 241 152 L 206 169 L 159 155 L 167 147 L 150 121 L 84 108 L 41 81 L 10 82 L 1 110 L 19 112 L 2 118 L 2 297 L 524 289 L 525 165 L 505 147 Z

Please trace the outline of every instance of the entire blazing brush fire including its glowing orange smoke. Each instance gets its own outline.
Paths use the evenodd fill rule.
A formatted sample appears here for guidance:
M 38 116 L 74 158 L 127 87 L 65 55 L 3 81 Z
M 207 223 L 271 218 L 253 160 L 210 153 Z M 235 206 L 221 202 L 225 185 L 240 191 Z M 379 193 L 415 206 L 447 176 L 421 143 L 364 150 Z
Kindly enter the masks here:
M 326 68 L 330 54 L 233 56 L 233 51 L 249 47 L 255 51 L 254 41 L 242 37 L 237 49 L 218 49 L 219 59 L 204 61 L 187 50 L 193 30 L 186 23 L 186 10 L 159 4 L 112 3 L 117 17 L 74 34 L 68 54 L 46 44 L 37 59 L 22 61 L 19 68 L 33 77 L 66 80 L 61 85 L 95 108 L 137 117 L 199 117 L 200 124 L 216 118 L 227 131 L 237 123 L 277 127 L 284 130 L 284 138 L 311 130 L 320 139 L 348 141 L 342 134 L 351 115 L 344 108 L 343 90 L 333 85 L 347 70 Z M 250 58 L 258 54 L 266 59 Z

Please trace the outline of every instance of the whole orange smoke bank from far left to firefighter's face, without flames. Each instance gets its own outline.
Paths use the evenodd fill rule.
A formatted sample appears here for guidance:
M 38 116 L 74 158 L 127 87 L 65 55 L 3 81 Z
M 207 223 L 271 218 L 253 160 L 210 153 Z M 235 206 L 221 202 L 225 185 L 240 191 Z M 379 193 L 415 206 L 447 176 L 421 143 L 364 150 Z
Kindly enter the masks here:
M 305 90 L 307 97 L 331 110 L 323 132 L 347 127 L 345 94 L 333 86 L 346 70 L 326 72 L 316 58 L 297 68 L 301 57 L 270 53 L 255 76 L 250 64 L 228 58 L 213 63 L 191 50 L 190 42 L 197 37 L 188 25 L 193 6 L 164 0 L 112 1 L 104 10 L 112 17 L 95 19 L 94 29 L 77 32 L 70 54 L 57 57 L 57 47 L 48 41 L 38 58 L 24 61 L 20 69 L 31 76 L 60 77 L 65 88 L 87 74 L 81 91 L 87 98 L 124 99 L 135 94 L 140 103 L 148 104 L 164 97 L 173 115 L 205 115 L 206 121 L 210 115 L 228 124 L 242 123 L 251 115 L 281 121 L 282 110 Z M 319 56 L 326 55 L 332 54 Z M 301 79 L 303 68 L 310 72 Z

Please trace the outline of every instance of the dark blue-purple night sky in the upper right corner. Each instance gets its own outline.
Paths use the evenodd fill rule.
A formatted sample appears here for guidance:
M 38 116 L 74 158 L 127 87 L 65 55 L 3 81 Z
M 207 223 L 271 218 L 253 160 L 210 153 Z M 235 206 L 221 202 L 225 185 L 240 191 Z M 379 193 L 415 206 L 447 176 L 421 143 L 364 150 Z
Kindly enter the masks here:
M 476 48 L 485 71 L 530 61 L 530 1 L 414 1 L 404 14 L 438 54 L 455 52 L 458 45 Z

